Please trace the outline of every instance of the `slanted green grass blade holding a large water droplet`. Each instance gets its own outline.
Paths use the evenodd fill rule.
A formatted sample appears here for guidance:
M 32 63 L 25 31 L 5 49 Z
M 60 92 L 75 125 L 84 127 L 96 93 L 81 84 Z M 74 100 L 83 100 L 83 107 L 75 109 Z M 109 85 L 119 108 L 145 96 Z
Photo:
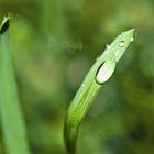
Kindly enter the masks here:
M 64 125 L 64 140 L 69 154 L 76 153 L 79 125 L 91 107 L 98 91 L 102 87 L 102 84 L 112 76 L 116 64 L 133 41 L 133 29 L 125 31 L 107 46 L 102 55 L 92 65 L 73 99 L 66 113 Z

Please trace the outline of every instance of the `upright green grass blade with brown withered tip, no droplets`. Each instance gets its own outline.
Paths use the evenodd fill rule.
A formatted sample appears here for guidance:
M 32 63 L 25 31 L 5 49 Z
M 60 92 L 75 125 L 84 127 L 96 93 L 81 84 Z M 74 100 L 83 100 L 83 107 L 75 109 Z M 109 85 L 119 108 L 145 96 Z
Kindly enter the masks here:
M 30 154 L 12 67 L 10 15 L 0 26 L 0 118 L 7 154 Z

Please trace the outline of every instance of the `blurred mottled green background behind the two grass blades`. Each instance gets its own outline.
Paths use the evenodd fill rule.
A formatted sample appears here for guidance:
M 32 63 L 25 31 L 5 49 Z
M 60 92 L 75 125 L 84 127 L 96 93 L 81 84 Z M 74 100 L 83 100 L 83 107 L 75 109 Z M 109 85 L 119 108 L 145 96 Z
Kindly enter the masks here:
M 78 154 L 154 154 L 153 0 L 0 0 L 1 20 L 7 12 L 33 154 L 66 154 L 72 99 L 106 44 L 131 28 L 134 42 L 81 124 Z

